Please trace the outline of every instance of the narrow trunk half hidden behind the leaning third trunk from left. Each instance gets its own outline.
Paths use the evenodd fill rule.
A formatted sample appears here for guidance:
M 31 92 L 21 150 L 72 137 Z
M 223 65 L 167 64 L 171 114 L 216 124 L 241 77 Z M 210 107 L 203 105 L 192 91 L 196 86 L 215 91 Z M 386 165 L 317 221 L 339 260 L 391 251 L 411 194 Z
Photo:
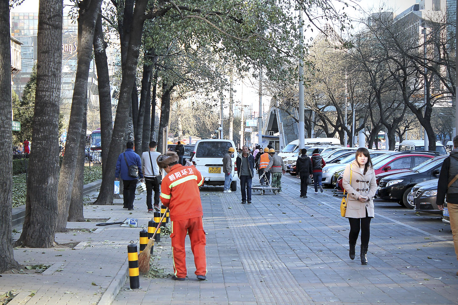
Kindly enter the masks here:
M 87 91 L 86 91 L 87 92 Z M 86 94 L 87 98 L 87 94 Z M 80 133 L 80 145 L 76 160 L 75 180 L 73 180 L 73 190 L 71 191 L 70 207 L 68 210 L 67 221 L 84 221 L 83 215 L 83 186 L 84 186 L 84 155 L 86 149 L 86 128 L 87 128 L 87 104 L 84 107 L 83 124 Z M 89 160 L 90 162 L 90 160 Z

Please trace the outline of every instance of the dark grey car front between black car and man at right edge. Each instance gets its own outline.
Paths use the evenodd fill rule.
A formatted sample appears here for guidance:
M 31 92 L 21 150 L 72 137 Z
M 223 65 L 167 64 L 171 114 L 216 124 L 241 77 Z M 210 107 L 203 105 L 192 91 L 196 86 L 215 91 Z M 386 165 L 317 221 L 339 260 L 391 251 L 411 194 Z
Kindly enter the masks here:
M 412 188 L 407 201 L 414 206 L 415 212 L 426 212 L 435 215 L 442 215 L 442 211 L 437 208 L 437 181 L 433 179 L 425 182 L 420 182 Z

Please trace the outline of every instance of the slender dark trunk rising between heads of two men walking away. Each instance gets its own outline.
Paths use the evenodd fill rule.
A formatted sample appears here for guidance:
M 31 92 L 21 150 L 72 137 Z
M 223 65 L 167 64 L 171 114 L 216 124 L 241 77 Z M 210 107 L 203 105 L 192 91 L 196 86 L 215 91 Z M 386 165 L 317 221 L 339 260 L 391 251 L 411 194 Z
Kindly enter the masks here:
M 145 57 L 148 56 L 147 54 L 145 54 Z M 152 71 L 153 71 L 153 65 L 143 65 L 142 88 L 140 89 L 140 103 L 138 104 L 136 130 L 134 131 L 135 152 L 138 155 L 142 155 L 142 150 L 143 150 L 143 147 L 142 147 L 143 128 L 144 128 L 143 120 L 145 119 L 145 104 L 147 103 L 147 99 L 148 99 L 148 86 L 151 82 L 151 72 Z

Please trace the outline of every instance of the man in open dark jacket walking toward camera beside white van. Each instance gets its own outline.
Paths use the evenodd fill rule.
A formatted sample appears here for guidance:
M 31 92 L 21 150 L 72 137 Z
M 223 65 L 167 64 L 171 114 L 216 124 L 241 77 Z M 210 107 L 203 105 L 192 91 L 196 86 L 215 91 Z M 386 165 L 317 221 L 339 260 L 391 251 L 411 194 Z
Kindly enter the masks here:
M 251 181 L 254 176 L 255 158 L 248 153 L 246 145 L 242 148 L 242 153 L 235 160 L 237 175 L 240 179 L 240 191 L 242 193 L 242 203 L 251 204 Z M 246 201 L 248 199 L 248 202 Z

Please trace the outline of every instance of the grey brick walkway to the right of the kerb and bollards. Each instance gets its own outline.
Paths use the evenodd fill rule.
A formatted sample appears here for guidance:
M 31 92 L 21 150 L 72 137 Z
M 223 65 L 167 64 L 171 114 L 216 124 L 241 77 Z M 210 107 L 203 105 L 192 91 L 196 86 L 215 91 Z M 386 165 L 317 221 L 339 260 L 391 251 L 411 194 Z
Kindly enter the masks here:
M 114 300 L 124 304 L 458 304 L 458 264 L 445 238 L 376 211 L 369 265 L 348 257 L 349 224 L 329 190 L 299 198 L 298 180 L 284 176 L 283 192 L 201 191 L 207 232 L 207 281 L 195 278 L 187 240 L 188 280 L 141 278 Z M 169 240 L 154 265 L 172 272 Z M 167 255 L 166 255 L 167 254 Z

